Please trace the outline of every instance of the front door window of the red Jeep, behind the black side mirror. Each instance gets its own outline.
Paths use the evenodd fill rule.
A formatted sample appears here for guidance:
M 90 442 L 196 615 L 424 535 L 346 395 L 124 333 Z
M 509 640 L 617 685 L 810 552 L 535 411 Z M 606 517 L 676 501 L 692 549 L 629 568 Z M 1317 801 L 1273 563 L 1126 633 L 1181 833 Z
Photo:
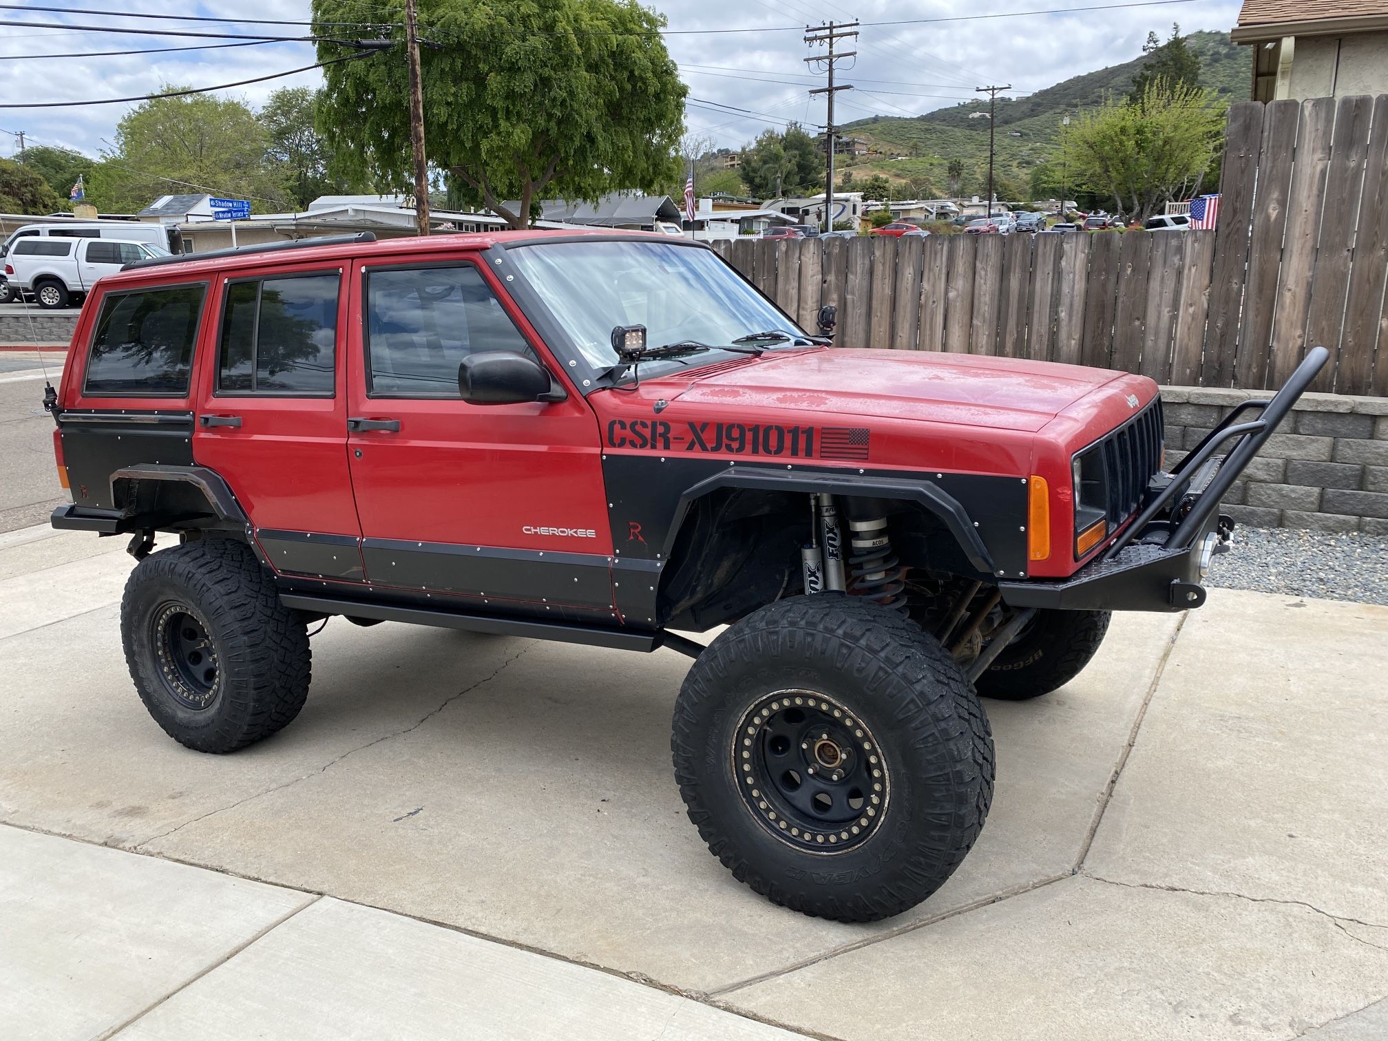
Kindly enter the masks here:
M 471 265 L 371 272 L 366 337 L 373 394 L 458 397 L 458 365 L 466 355 L 530 354 Z

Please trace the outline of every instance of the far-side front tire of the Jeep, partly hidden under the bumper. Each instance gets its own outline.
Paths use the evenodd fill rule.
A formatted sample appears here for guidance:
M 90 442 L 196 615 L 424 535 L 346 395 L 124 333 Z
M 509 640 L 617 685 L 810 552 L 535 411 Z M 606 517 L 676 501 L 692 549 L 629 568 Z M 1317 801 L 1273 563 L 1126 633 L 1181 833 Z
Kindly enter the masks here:
M 1108 611 L 1037 611 L 974 684 L 985 698 L 1026 701 L 1073 680 L 1109 632 Z

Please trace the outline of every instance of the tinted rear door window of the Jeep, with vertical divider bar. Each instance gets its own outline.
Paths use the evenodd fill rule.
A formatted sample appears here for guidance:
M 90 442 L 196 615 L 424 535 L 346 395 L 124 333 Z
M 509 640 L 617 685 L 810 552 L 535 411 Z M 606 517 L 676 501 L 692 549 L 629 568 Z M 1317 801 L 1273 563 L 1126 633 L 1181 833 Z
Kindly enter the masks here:
M 340 280 L 333 273 L 230 283 L 218 389 L 332 394 Z

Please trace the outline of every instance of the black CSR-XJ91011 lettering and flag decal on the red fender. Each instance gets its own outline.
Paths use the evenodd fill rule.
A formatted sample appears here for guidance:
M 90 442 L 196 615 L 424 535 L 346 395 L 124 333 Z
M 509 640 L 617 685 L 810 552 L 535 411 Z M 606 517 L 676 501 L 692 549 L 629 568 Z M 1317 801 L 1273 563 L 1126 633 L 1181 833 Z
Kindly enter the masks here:
M 865 426 L 612 419 L 607 443 L 609 448 L 861 462 L 869 455 L 872 432 Z

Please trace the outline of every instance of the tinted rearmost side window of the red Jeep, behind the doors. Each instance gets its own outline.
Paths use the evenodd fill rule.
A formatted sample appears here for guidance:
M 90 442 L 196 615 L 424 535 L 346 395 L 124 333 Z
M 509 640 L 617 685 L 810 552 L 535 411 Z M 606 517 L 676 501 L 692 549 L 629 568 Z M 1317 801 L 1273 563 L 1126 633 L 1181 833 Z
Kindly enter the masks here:
M 87 358 L 86 394 L 187 394 L 207 286 L 111 293 Z

